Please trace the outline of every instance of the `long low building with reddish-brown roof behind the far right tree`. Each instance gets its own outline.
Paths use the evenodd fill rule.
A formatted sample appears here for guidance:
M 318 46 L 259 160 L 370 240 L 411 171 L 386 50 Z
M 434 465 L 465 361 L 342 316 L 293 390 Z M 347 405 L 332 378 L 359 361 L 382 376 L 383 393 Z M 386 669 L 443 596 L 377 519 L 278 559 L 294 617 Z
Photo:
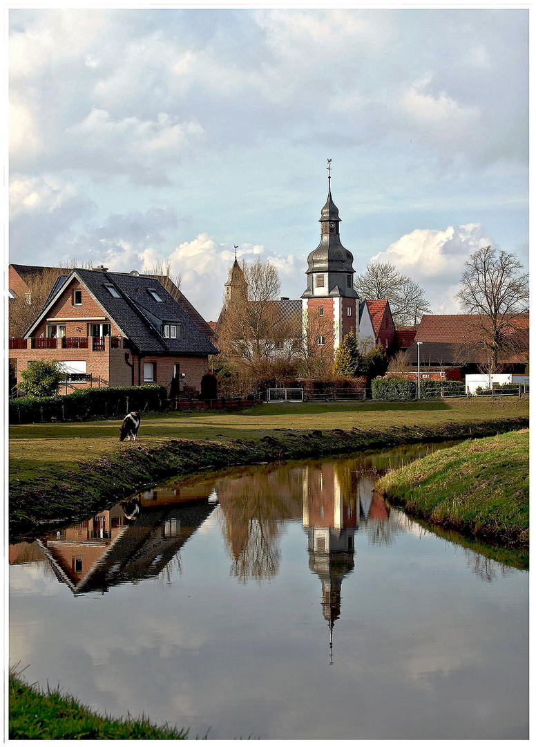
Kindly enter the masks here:
M 487 362 L 479 341 L 480 320 L 478 314 L 425 314 L 408 349 L 410 365 L 420 363 L 421 371 L 438 371 L 447 379 L 478 373 Z M 513 344 L 499 355 L 501 372 L 523 373 L 529 358 L 529 314 L 518 314 L 509 326 Z

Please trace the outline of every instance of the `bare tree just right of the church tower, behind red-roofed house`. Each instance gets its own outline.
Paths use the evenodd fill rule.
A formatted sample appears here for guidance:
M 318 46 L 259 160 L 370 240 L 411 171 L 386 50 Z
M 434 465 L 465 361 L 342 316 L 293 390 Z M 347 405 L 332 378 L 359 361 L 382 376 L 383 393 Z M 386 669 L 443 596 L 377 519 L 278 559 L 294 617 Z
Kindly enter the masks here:
M 395 326 L 416 325 L 423 314 L 432 313 L 424 289 L 390 262 L 370 262 L 354 279 L 354 287 L 360 298 L 387 299 Z

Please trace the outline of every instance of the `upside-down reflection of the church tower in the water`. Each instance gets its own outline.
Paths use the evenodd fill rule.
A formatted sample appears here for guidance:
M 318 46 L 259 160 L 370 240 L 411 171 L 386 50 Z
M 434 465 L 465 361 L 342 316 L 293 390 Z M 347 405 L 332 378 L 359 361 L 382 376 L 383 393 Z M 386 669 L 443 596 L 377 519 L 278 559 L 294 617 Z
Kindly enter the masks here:
M 359 521 L 356 475 L 341 465 L 306 468 L 303 527 L 309 538 L 309 568 L 322 584 L 322 613 L 330 627 L 341 616 L 341 585 L 353 571 L 354 534 Z

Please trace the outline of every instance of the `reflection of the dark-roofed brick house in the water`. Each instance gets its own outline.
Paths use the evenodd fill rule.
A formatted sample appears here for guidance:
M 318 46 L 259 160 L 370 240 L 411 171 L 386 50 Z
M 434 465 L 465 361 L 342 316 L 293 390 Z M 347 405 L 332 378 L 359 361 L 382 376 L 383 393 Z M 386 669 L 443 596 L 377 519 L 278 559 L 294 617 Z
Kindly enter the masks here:
M 125 521 L 121 504 L 57 536 L 37 540 L 58 580 L 75 594 L 156 577 L 208 518 L 208 499 L 141 509 Z

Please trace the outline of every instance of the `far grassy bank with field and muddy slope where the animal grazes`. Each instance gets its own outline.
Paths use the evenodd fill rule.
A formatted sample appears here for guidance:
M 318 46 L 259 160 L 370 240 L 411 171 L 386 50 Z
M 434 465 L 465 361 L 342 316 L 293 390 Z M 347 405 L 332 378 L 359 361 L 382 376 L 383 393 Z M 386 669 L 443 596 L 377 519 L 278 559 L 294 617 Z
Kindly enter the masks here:
M 517 397 L 420 403 L 286 403 L 243 412 L 145 415 L 139 441 L 119 421 L 10 427 L 10 530 L 78 521 L 172 474 L 490 436 L 528 426 Z

